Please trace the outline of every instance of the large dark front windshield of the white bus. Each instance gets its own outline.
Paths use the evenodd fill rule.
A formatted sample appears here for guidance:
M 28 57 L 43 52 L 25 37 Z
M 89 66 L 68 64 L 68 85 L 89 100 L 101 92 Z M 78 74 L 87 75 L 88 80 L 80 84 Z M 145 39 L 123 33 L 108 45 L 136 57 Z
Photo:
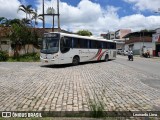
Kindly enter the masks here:
M 53 37 L 43 38 L 41 53 L 53 54 L 59 50 L 59 39 Z

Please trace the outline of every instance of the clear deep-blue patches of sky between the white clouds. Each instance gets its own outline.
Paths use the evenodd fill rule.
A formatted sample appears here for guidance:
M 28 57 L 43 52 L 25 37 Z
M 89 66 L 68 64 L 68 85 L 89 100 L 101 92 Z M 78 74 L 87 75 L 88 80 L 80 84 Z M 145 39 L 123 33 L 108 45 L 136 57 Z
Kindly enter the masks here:
M 21 1 L 23 3 L 24 0 L 19 0 L 19 1 Z M 60 0 L 60 1 L 65 2 L 68 5 L 72 5 L 72 6 L 76 7 L 81 0 Z M 129 4 L 129 3 L 125 2 L 124 0 L 90 0 L 90 1 L 100 4 L 100 6 L 102 8 L 105 8 L 107 5 L 119 8 L 118 15 L 120 17 L 124 17 L 126 15 L 131 15 L 131 14 L 139 14 L 139 13 L 143 14 L 144 16 L 156 15 L 154 13 L 154 11 L 150 11 L 148 9 L 143 10 L 143 11 L 140 11 L 138 9 L 133 9 L 134 2 Z M 152 1 L 152 0 L 150 0 L 150 1 Z M 35 5 L 36 5 L 37 1 L 36 0 L 25 0 L 25 3 L 31 4 L 31 5 L 33 5 L 33 7 L 36 8 Z M 46 7 L 47 6 L 48 5 L 46 5 Z

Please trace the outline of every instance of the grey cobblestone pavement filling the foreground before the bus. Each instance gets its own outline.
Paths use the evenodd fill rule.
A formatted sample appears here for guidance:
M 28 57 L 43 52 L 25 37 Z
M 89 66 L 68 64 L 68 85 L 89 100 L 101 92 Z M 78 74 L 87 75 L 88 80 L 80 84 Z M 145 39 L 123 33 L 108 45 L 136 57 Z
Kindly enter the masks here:
M 159 89 L 143 82 L 160 78 L 114 61 L 79 66 L 0 63 L 0 111 L 160 110 Z

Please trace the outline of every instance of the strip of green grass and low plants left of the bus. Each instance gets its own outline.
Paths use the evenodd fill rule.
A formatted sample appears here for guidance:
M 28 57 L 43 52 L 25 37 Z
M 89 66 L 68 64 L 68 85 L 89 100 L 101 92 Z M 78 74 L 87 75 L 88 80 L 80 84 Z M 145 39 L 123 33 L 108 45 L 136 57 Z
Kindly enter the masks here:
M 9 57 L 7 62 L 39 62 L 40 55 L 39 53 L 29 53 L 20 55 L 18 57 Z

